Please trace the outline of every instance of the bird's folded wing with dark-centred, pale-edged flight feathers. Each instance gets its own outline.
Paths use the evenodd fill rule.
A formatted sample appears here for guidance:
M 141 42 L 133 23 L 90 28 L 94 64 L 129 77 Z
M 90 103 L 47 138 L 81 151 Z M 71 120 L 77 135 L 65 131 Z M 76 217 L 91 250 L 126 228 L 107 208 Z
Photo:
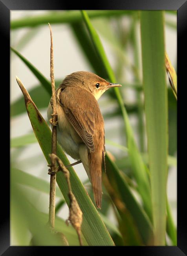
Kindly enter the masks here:
M 68 104 L 68 106 L 64 106 L 64 98 L 63 93 L 59 97 L 61 100 L 61 106 L 64 109 L 64 113 L 70 122 L 72 124 L 73 128 L 76 130 L 77 134 L 81 137 L 81 139 L 84 141 L 86 146 L 92 151 L 95 151 L 94 146 L 94 130 L 95 130 L 95 118 L 94 113 L 88 110 L 83 110 L 76 108 L 71 108 L 72 104 Z M 72 102 L 71 102 L 72 103 Z

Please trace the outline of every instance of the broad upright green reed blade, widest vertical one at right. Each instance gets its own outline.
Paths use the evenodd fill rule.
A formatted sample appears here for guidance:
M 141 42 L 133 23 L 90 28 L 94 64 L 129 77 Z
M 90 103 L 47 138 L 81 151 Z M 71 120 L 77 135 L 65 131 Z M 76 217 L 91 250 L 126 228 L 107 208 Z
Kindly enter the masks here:
M 140 18 L 154 245 L 165 245 L 168 106 L 163 11 L 141 11 Z

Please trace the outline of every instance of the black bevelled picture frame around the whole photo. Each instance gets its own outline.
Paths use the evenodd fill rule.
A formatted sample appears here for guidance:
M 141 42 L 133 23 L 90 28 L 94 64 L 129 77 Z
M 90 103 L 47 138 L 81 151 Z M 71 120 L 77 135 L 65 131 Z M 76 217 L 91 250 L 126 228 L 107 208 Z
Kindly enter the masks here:
M 99 2 L 99 4 L 95 3 L 95 6 L 84 6 L 81 9 L 141 9 L 141 10 L 177 10 L 178 18 L 177 18 L 177 34 L 178 34 L 178 43 L 177 43 L 177 71 L 178 71 L 178 130 L 180 132 L 178 133 L 178 141 L 180 141 L 180 134 L 185 134 L 185 131 L 183 133 L 182 129 L 185 129 L 183 125 L 179 124 L 180 121 L 180 113 L 182 107 L 181 105 L 181 84 L 182 81 L 185 81 L 185 78 L 183 76 L 186 73 L 186 64 L 183 64 L 181 61 L 182 59 L 186 62 L 186 46 L 187 46 L 187 1 L 186 0 L 131 0 L 128 2 L 125 1 L 103 1 Z M 53 0 L 53 1 L 47 1 L 47 0 L 0 0 L 0 32 L 1 32 L 1 63 L 2 63 L 2 74 L 1 74 L 1 85 L 3 90 L 7 90 L 8 82 L 9 81 L 9 74 L 6 74 L 6 71 L 9 73 L 10 71 L 10 63 L 9 63 L 9 54 L 10 54 L 10 11 L 11 10 L 58 10 L 58 9 L 78 9 L 80 6 L 75 6 L 70 4 L 67 4 L 65 2 Z M 3 56 L 4 54 L 4 56 Z M 5 88 L 6 87 L 6 88 Z M 3 96 L 3 93 L 1 93 L 1 96 Z M 4 96 L 3 96 L 4 98 Z M 6 105 L 7 104 L 7 105 Z M 5 111 L 6 109 L 6 111 Z M 9 103 L 8 100 L 5 99 L 5 104 L 2 107 L 2 126 L 4 127 L 4 122 L 8 124 L 8 120 L 6 121 L 7 112 L 9 109 Z M 184 109 L 184 108 L 183 108 Z M 8 127 L 8 126 L 6 126 Z M 6 128 L 5 127 L 5 128 Z M 3 134 L 8 133 L 8 129 L 3 128 Z M 4 135 L 6 136 L 6 135 Z M 7 134 L 8 137 L 8 134 Z M 184 141 L 183 141 L 184 143 Z M 8 143 L 6 143 L 8 145 Z M 179 143 L 178 143 L 179 145 Z M 6 151 L 7 150 L 7 151 Z M 185 159 L 182 157 L 182 153 L 184 151 L 181 147 L 178 147 L 178 162 L 181 162 L 182 159 Z M 5 156 L 9 156 L 8 153 L 8 147 L 4 149 L 3 153 L 3 160 L 4 161 L 4 154 Z M 181 160 L 181 161 L 180 161 Z M 181 164 L 180 164 L 181 165 Z M 178 164 L 178 167 L 180 166 Z M 7 166 L 7 161 L 6 165 Z M 181 170 L 181 169 L 180 169 Z M 1 212 L 1 225 L 0 225 L 0 255 L 9 256 L 9 255 L 39 255 L 42 252 L 44 253 L 44 247 L 19 247 L 19 246 L 10 246 L 10 211 L 9 211 L 9 170 L 7 167 L 4 167 L 2 165 L 1 169 L 1 205 L 2 210 Z M 177 209 L 178 209 L 178 246 L 167 246 L 167 247 L 123 247 L 121 248 L 121 252 L 123 254 L 126 254 L 127 252 L 130 252 L 131 254 L 138 254 L 143 256 L 177 256 L 177 255 L 187 255 L 187 228 L 186 228 L 186 212 L 184 210 L 184 205 L 182 205 L 182 201 L 185 198 L 185 186 L 182 186 L 182 181 L 185 181 L 185 170 L 182 170 L 178 172 L 177 176 L 178 180 L 178 203 L 177 203 Z M 4 188 L 3 188 L 4 187 Z M 184 204 L 184 201 L 183 201 Z M 54 254 L 54 247 L 47 247 L 48 253 Z M 75 249 L 75 247 L 73 248 Z M 95 254 L 95 250 L 97 250 L 96 247 L 76 247 L 76 253 L 81 253 L 81 250 L 88 250 L 90 254 Z M 104 250 L 107 248 L 105 247 Z M 116 250 L 117 247 L 111 247 L 110 250 L 113 252 L 113 250 Z M 118 247 L 119 249 L 119 247 Z M 55 247 L 55 253 L 56 250 L 59 250 L 60 253 L 64 253 L 66 255 L 71 254 L 72 255 L 72 247 Z M 65 250 L 65 251 L 64 251 Z

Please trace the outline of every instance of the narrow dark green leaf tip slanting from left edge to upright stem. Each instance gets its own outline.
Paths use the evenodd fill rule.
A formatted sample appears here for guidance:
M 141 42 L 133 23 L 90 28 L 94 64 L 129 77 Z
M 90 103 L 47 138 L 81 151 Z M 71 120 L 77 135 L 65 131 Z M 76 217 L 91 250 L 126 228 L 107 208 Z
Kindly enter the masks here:
M 45 78 L 39 70 L 37 70 L 24 56 L 22 56 L 19 52 L 11 47 L 11 50 L 27 65 L 27 67 L 31 70 L 31 72 L 38 78 L 39 82 L 44 86 L 46 91 L 51 95 L 51 84 Z

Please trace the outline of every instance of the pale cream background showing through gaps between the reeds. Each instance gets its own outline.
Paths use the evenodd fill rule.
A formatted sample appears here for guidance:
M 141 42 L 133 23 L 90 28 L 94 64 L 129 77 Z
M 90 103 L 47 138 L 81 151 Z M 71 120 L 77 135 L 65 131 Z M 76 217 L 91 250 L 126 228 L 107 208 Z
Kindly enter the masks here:
M 11 11 L 11 19 L 17 19 L 20 17 L 24 17 L 27 15 L 38 15 L 46 13 L 46 11 Z M 176 18 L 173 15 L 169 17 L 172 21 L 176 22 Z M 127 21 L 126 21 L 127 23 Z M 54 73 L 55 79 L 61 79 L 72 72 L 79 70 L 87 70 L 91 71 L 88 62 L 84 58 L 81 49 L 77 45 L 72 31 L 69 29 L 68 25 L 61 24 L 55 25 L 51 24 L 51 28 L 53 31 L 53 48 L 54 48 Z M 13 30 L 11 32 L 11 46 L 16 49 L 16 44 L 19 39 L 27 32 L 27 28 L 22 28 L 19 30 Z M 28 59 L 46 78 L 50 80 L 50 34 L 49 28 L 46 26 L 40 26 L 39 29 L 36 30 L 37 34 L 27 43 L 27 45 L 20 51 L 20 53 Z M 99 33 L 99 32 L 98 32 Z M 103 46 L 106 50 L 107 57 L 112 66 L 114 66 L 114 58 L 112 55 L 112 51 L 108 42 L 102 37 L 99 33 Z M 139 41 L 140 43 L 140 41 Z M 167 54 L 170 58 L 171 63 L 174 65 L 176 63 L 176 31 L 170 28 L 165 30 L 165 44 Z M 19 51 L 19 50 L 18 50 Z M 132 58 L 132 53 L 129 52 L 129 58 Z M 35 85 L 38 84 L 37 78 L 29 71 L 26 65 L 17 57 L 15 54 L 11 53 L 11 102 L 14 102 L 17 98 L 22 95 L 20 88 L 16 83 L 15 76 L 18 76 L 20 80 L 23 82 L 24 86 L 27 90 L 31 89 Z M 128 76 L 128 81 L 130 80 L 130 74 Z M 42 97 L 42 95 L 41 95 Z M 128 101 L 133 101 L 132 93 L 128 93 L 126 95 Z M 102 106 L 102 100 L 105 100 L 105 96 L 103 95 L 99 100 L 99 104 L 101 106 L 101 112 L 104 113 L 105 108 Z M 111 106 L 112 109 L 112 106 Z M 108 110 L 108 109 L 107 109 Z M 46 111 L 41 111 L 42 116 L 46 119 L 47 113 Z M 136 123 L 136 120 L 131 117 L 131 123 Z M 120 127 L 120 121 L 116 120 L 112 124 L 109 122 L 105 122 L 105 129 L 107 127 L 116 129 L 116 137 L 112 138 L 113 141 L 120 144 L 120 137 L 117 135 Z M 32 131 L 32 127 L 29 121 L 27 114 L 15 117 L 11 120 L 11 137 L 17 137 L 20 135 L 28 134 Z M 107 139 L 107 137 L 106 137 Z M 108 138 L 109 139 L 109 138 Z M 106 150 L 110 149 L 108 145 L 106 145 Z M 24 161 L 27 158 L 31 158 L 32 161 L 35 159 L 35 163 L 28 163 L 28 161 Z M 74 160 L 69 156 L 70 162 L 72 163 Z M 48 175 L 48 167 L 44 156 L 42 155 L 42 151 L 38 145 L 38 143 L 32 144 L 24 151 L 20 152 L 18 155 L 18 164 L 17 168 L 24 170 L 30 174 L 39 176 L 44 180 L 50 179 Z M 77 175 L 84 181 L 87 179 L 86 171 L 82 164 L 75 166 L 75 171 Z M 31 196 L 35 197 L 36 204 L 38 208 L 44 212 L 48 212 L 48 205 L 46 202 L 49 200 L 49 196 L 35 190 L 31 190 Z M 171 203 L 172 213 L 174 216 L 174 221 L 176 223 L 176 168 L 173 167 L 170 170 L 168 177 L 168 198 Z M 59 198 L 57 198 L 58 202 Z M 45 208 L 44 208 L 45 206 Z M 68 218 L 68 207 L 64 206 L 58 214 L 64 219 Z M 112 213 L 110 219 L 113 220 Z M 16 237 L 11 238 L 11 244 L 16 244 Z

